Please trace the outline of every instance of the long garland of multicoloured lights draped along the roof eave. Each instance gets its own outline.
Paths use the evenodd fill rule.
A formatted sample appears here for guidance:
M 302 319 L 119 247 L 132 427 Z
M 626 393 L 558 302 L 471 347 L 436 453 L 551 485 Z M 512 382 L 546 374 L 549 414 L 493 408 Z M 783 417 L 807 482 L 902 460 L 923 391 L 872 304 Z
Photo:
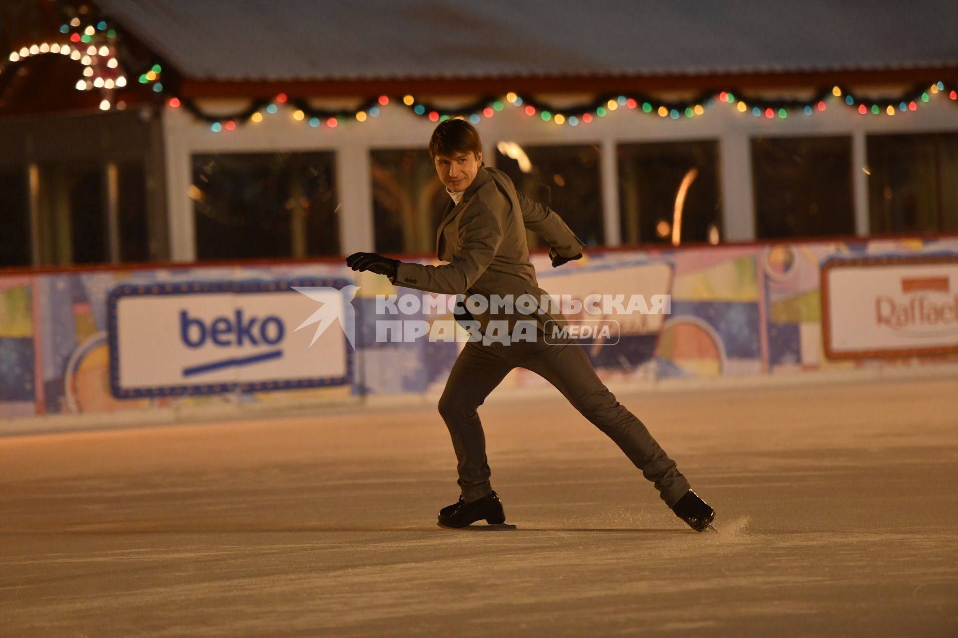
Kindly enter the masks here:
M 845 107 L 854 108 L 862 115 L 883 114 L 893 116 L 897 113 L 918 110 L 919 104 L 930 101 L 931 96 L 936 94 L 947 96 L 951 101 L 958 103 L 958 85 L 945 82 L 913 87 L 894 98 L 867 98 L 856 95 L 847 87 L 834 86 L 831 89 L 816 91 L 810 99 L 766 99 L 743 96 L 731 91 L 720 91 L 718 93 L 702 93 L 694 99 L 671 101 L 657 99 L 647 94 L 603 95 L 588 102 L 571 106 L 557 106 L 532 96 L 508 93 L 501 99 L 485 96 L 452 109 L 444 109 L 436 104 L 416 99 L 411 95 L 403 96 L 401 99 L 379 96 L 375 99 L 367 99 L 359 106 L 351 109 L 317 109 L 312 107 L 306 99 L 289 99 L 285 94 L 280 94 L 271 100 L 253 100 L 248 107 L 229 116 L 206 113 L 194 101 L 188 99 L 171 98 L 168 103 L 172 107 L 178 107 L 182 104 L 197 119 L 210 123 L 211 129 L 218 133 L 222 130 L 235 130 L 239 123 L 258 123 L 263 120 L 264 114 L 275 115 L 278 113 L 281 105 L 294 109 L 293 119 L 308 121 L 312 127 L 323 125 L 335 127 L 340 123 L 352 120 L 367 121 L 369 118 L 376 118 L 381 112 L 381 107 L 391 103 L 402 104 L 417 116 L 430 121 L 460 118 L 474 124 L 479 123 L 483 118 L 493 117 L 496 113 L 505 109 L 505 105 L 508 103 L 512 104 L 513 107 L 521 108 L 531 118 L 559 125 L 578 126 L 581 123 L 588 124 L 595 121 L 596 118 L 604 118 L 610 112 L 620 108 L 655 115 L 660 118 L 680 120 L 704 115 L 706 109 L 715 108 L 719 103 L 734 105 L 734 108 L 740 113 L 748 113 L 756 118 L 766 119 L 785 119 L 789 114 L 796 112 L 810 116 L 827 110 L 829 102 L 836 100 Z

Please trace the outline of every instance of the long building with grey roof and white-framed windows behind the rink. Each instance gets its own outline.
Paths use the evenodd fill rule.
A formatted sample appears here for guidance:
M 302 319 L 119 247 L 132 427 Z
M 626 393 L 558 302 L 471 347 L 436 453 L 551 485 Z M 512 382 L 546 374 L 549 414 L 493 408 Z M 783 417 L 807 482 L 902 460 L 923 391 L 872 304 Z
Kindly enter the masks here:
M 445 194 L 425 148 L 447 117 L 592 249 L 958 232 L 939 3 L 894 42 L 894 3 L 788 24 L 368 4 L 377 19 L 298 0 L 45 9 L 0 70 L 0 263 L 431 254 Z

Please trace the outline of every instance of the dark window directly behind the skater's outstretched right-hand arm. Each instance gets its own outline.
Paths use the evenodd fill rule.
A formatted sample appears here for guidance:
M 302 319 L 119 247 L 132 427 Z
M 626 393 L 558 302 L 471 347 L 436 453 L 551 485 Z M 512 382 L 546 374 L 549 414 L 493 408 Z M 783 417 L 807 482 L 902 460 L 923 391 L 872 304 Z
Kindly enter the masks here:
M 588 246 L 603 246 L 602 176 L 599 147 L 594 145 L 526 146 L 497 144 L 495 165 L 527 197 L 559 213 Z M 544 248 L 526 233 L 529 248 Z

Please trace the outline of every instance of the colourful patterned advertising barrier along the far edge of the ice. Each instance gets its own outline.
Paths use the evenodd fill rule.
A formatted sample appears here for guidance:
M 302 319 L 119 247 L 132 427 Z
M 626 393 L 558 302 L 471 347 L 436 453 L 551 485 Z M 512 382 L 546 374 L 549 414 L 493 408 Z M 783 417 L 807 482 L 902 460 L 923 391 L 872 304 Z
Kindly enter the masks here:
M 895 283 L 895 290 L 881 294 L 894 294 L 901 303 L 915 296 L 934 297 L 937 308 L 947 309 L 951 303 L 948 299 L 955 298 L 958 292 L 958 278 L 954 275 L 958 263 L 955 237 L 610 250 L 586 253 L 584 259 L 559 269 L 551 268 L 546 255 L 533 256 L 543 288 L 550 292 L 565 288 L 577 295 L 585 294 L 590 287 L 595 292 L 606 292 L 609 282 L 617 287 L 609 291 L 613 293 L 655 292 L 662 284 L 656 283 L 652 290 L 647 275 L 657 272 L 655 269 L 669 269 L 672 314 L 667 319 L 649 324 L 652 329 L 647 325 L 645 330 L 625 334 L 614 345 L 583 342 L 606 385 L 624 391 L 673 385 L 793 383 L 799 379 L 814 383 L 816 379 L 832 377 L 881 376 L 889 371 L 924 376 L 928 371 L 939 370 L 945 374 L 948 364 L 958 362 L 954 343 L 948 341 L 953 337 L 948 332 L 950 327 L 945 326 L 947 329 L 940 331 L 947 333 L 945 337 L 936 337 L 940 342 L 928 348 L 899 348 L 889 354 L 882 351 L 881 342 L 879 347 L 873 347 L 876 343 L 872 342 L 849 357 L 847 352 L 837 353 L 830 328 L 835 317 L 840 321 L 852 316 L 856 306 L 849 304 L 854 304 L 855 299 L 845 296 L 823 304 L 822 294 L 828 293 L 822 287 L 823 266 L 827 275 L 833 269 L 829 264 L 847 266 L 855 261 L 901 265 L 922 260 L 930 260 L 929 266 L 931 261 L 938 261 L 931 271 L 915 271 L 918 275 L 904 277 L 911 280 L 907 290 L 904 284 L 895 283 L 902 277 L 895 279 L 898 275 L 894 275 L 889 280 Z M 862 281 L 871 282 L 869 285 L 883 285 L 880 278 L 884 275 L 878 270 L 860 276 L 864 277 Z M 125 369 L 118 359 L 124 352 L 122 345 L 117 346 L 120 328 L 115 321 L 111 322 L 110 311 L 111 299 L 121 297 L 119 291 L 161 286 L 172 290 L 183 290 L 184 286 L 232 290 L 244 285 L 278 286 L 283 282 L 333 282 L 330 287 L 340 291 L 350 287 L 355 295 L 349 301 L 354 311 L 354 342 L 346 338 L 345 330 L 337 328 L 324 332 L 321 342 L 311 350 L 301 343 L 302 352 L 314 355 L 315 366 L 308 368 L 305 375 L 302 370 L 280 366 L 269 378 L 257 377 L 254 368 L 261 363 L 253 362 L 256 365 L 228 366 L 233 376 L 225 382 L 204 383 L 201 391 L 196 389 L 198 383 L 179 385 L 184 389 L 173 392 L 170 388 L 177 385 L 170 378 L 162 378 L 160 369 L 167 363 L 171 363 L 167 366 L 170 369 L 191 366 L 185 359 L 186 349 L 173 347 L 175 335 L 168 329 L 162 339 L 157 338 L 155 352 L 149 350 L 150 343 L 141 344 L 143 352 L 153 354 L 141 357 L 137 383 L 146 380 L 152 385 L 137 385 L 139 394 L 125 394 L 124 385 L 114 378 Z M 353 286 L 359 286 L 358 291 Z M 360 403 L 418 405 L 423 397 L 434 397 L 442 391 L 461 344 L 377 343 L 374 297 L 396 292 L 383 277 L 355 274 L 338 260 L 0 274 L 0 420 L 7 424 L 33 423 L 36 429 L 42 429 L 43 422 L 53 427 L 60 420 L 79 423 L 87 418 L 94 422 L 99 419 L 103 424 L 169 423 L 186 418 L 186 414 L 192 419 L 218 419 L 277 410 L 293 413 L 316 407 L 355 407 Z M 400 292 L 418 294 L 406 289 Z M 295 334 L 308 343 L 314 331 L 311 327 L 295 331 L 299 325 L 296 319 L 308 319 L 317 304 L 299 293 L 288 294 L 289 299 L 302 297 L 296 302 L 302 305 L 290 310 L 292 315 L 284 319 L 284 335 Z M 211 331 L 213 322 L 225 317 L 216 314 L 216 303 L 206 310 L 198 308 L 173 310 L 185 310 L 186 321 L 197 319 L 201 312 L 212 308 L 213 314 L 203 319 L 204 329 Z M 165 308 L 163 312 L 169 310 Z M 943 312 L 947 316 L 947 311 Z M 837 315 L 832 317 L 833 313 Z M 149 313 L 134 319 L 146 326 Z M 169 328 L 171 319 L 164 320 Z M 227 335 L 237 335 L 237 325 L 234 322 L 228 328 L 220 321 L 217 340 L 226 342 Z M 849 326 L 845 328 L 843 338 L 855 333 L 854 323 L 851 330 Z M 146 330 L 144 334 L 148 334 Z M 198 328 L 194 334 L 199 334 Z M 242 336 L 247 334 L 248 331 L 243 332 Z M 873 341 L 886 339 L 880 332 L 867 337 Z M 196 341 L 198 337 L 192 339 Z M 348 361 L 339 359 L 336 363 L 343 365 L 332 365 L 333 351 L 348 353 Z M 221 360 L 231 357 L 224 355 Z M 131 355 L 130 361 L 135 360 Z M 195 361 L 198 363 L 193 367 L 199 369 L 195 376 L 200 377 L 206 373 L 201 363 L 218 360 L 210 357 L 209 361 Z M 293 359 L 288 361 L 292 364 Z M 272 363 L 279 364 L 278 360 Z M 324 380 L 328 383 L 320 383 Z M 290 381 L 293 385 L 289 385 Z M 301 385 L 295 385 L 296 382 Z M 497 392 L 503 396 L 551 390 L 536 375 L 522 369 L 513 370 L 500 388 Z

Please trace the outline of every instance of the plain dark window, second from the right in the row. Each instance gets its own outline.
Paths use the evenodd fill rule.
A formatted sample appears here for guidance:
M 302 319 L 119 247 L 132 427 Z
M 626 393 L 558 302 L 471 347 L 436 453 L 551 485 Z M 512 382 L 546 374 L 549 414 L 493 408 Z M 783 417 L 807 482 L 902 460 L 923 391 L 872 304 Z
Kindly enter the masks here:
M 753 138 L 759 239 L 855 234 L 852 138 Z

